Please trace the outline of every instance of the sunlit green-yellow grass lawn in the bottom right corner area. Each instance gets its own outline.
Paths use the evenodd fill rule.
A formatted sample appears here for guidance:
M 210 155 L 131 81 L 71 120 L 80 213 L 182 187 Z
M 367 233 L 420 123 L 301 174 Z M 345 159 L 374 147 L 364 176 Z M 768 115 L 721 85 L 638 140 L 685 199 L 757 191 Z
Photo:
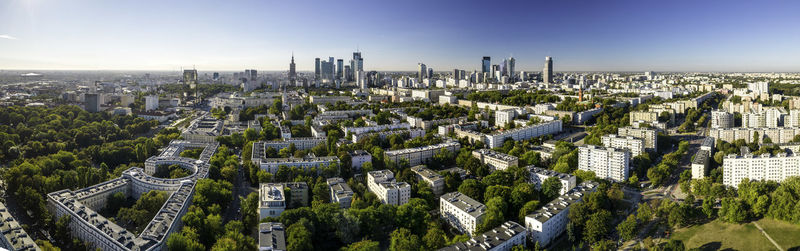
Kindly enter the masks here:
M 763 227 L 763 224 L 761 225 Z M 786 238 L 791 238 L 788 237 L 789 235 L 786 236 Z M 797 235 L 794 236 L 796 238 Z M 671 238 L 683 241 L 686 249 L 697 247 L 703 250 L 724 250 L 729 248 L 733 250 L 776 249 L 775 245 L 772 245 L 767 237 L 764 237 L 752 223 L 740 225 L 714 220 L 703 225 L 677 229 Z

